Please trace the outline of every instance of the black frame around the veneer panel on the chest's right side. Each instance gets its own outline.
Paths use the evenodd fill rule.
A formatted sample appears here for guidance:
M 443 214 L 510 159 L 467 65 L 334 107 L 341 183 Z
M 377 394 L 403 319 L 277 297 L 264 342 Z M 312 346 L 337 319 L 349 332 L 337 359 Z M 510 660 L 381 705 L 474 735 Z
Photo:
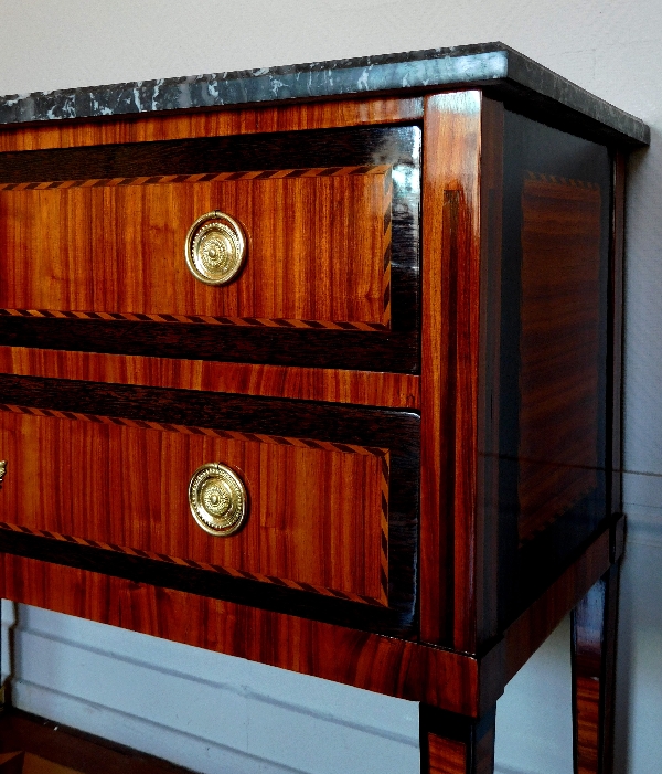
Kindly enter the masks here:
M 601 530 L 608 517 L 607 469 L 611 404 L 606 382 L 612 320 L 608 310 L 612 162 L 608 150 L 555 131 L 509 110 L 504 115 L 504 200 L 501 266 L 499 621 L 506 627 L 568 566 L 578 545 Z M 600 341 L 597 423 L 597 486 L 579 502 L 520 545 L 519 457 L 521 434 L 522 188 L 528 172 L 581 180 L 601 192 Z

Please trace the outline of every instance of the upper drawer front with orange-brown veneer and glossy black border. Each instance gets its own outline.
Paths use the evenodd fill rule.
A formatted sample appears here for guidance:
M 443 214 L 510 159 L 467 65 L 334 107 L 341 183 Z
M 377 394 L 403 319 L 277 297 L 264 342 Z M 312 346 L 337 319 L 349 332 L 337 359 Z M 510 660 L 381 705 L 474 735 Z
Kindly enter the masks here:
M 414 371 L 420 129 L 0 155 L 0 320 L 17 346 Z M 229 283 L 186 235 L 246 237 Z

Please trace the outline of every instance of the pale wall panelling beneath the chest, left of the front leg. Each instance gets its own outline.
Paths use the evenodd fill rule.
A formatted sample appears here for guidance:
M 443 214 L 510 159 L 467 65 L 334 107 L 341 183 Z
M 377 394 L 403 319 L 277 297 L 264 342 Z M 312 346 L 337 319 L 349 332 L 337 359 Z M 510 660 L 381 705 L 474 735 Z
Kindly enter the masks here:
M 22 605 L 13 639 L 19 709 L 197 772 L 419 772 L 415 702 Z

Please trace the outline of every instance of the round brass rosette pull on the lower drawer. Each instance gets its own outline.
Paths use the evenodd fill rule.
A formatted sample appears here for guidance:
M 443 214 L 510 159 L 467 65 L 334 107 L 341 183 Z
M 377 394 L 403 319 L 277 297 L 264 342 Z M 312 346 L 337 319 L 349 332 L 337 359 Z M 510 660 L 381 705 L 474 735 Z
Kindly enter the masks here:
M 247 512 L 244 481 L 222 463 L 207 463 L 191 477 L 189 506 L 205 532 L 226 538 L 244 526 Z

